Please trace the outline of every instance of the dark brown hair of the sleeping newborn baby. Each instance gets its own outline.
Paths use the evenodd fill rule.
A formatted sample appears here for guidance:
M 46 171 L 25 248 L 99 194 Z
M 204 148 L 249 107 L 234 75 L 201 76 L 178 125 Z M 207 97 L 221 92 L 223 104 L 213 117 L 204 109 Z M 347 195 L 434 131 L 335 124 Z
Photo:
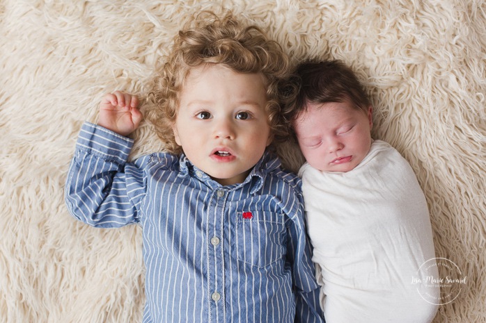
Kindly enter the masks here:
M 370 99 L 353 70 L 340 60 L 308 60 L 297 65 L 281 87 L 283 113 L 290 124 L 308 103 L 343 102 L 368 112 Z M 289 124 L 289 126 L 290 126 Z

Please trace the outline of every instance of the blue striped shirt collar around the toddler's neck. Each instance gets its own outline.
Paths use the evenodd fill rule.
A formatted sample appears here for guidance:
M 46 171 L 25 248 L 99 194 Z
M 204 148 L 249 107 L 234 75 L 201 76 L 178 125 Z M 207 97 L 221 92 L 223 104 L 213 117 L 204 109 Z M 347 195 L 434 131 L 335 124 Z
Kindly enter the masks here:
M 258 160 L 253 169 L 251 169 L 250 174 L 246 177 L 246 179 L 242 183 L 238 183 L 235 185 L 228 186 L 231 190 L 236 190 L 241 188 L 243 185 L 250 183 L 251 190 L 250 193 L 254 194 L 260 188 L 262 188 L 263 181 L 267 173 L 271 172 L 272 170 L 280 167 L 281 162 L 279 158 L 274 156 L 272 153 L 265 151 L 262 158 Z M 185 154 L 181 154 L 179 158 L 179 174 L 180 177 L 187 177 L 190 176 L 198 181 L 205 183 L 205 185 L 210 186 L 211 188 L 221 188 L 221 184 L 217 183 L 211 179 L 205 172 L 198 167 L 194 166 L 191 161 L 185 156 Z

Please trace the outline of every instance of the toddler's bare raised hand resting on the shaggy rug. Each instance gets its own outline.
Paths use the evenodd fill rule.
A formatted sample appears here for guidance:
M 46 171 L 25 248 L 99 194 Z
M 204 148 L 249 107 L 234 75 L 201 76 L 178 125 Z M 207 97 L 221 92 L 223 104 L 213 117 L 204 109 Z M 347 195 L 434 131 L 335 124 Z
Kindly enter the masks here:
M 132 94 L 116 91 L 104 96 L 100 103 L 98 125 L 120 135 L 130 135 L 138 128 L 142 114 L 139 98 Z

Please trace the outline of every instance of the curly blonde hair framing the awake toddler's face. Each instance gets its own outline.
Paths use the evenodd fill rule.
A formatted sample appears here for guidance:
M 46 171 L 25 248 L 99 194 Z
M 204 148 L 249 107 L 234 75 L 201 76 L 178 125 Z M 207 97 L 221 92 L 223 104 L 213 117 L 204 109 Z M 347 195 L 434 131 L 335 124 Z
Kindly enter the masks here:
M 181 154 L 172 126 L 178 115 L 180 92 L 190 70 L 204 64 L 223 64 L 235 72 L 260 73 L 267 86 L 266 112 L 275 141 L 286 137 L 281 119 L 278 85 L 288 76 L 289 59 L 280 45 L 258 26 L 244 26 L 232 13 L 218 17 L 202 12 L 176 35 L 171 53 L 157 70 L 148 101 L 147 119 L 172 154 Z

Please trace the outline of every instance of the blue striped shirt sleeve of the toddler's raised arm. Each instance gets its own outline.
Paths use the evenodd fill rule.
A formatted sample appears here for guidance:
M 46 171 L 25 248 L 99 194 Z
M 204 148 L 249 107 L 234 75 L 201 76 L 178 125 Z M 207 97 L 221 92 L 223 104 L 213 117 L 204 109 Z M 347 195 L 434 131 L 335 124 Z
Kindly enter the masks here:
M 147 158 L 127 163 L 133 142 L 101 126 L 83 124 L 65 185 L 65 203 L 77 220 L 100 228 L 139 222 Z

